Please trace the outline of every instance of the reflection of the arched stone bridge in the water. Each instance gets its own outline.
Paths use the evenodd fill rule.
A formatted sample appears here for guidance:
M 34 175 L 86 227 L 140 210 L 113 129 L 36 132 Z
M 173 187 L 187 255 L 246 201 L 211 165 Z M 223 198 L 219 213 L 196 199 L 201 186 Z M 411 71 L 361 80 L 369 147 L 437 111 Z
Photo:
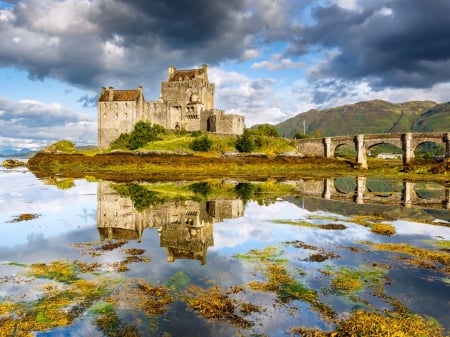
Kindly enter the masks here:
M 420 183 L 403 181 L 401 186 L 391 191 L 370 188 L 371 181 L 359 176 L 346 188 L 340 188 L 339 179 L 300 180 L 297 188 L 303 195 L 333 200 L 352 200 L 357 204 L 401 204 L 404 207 L 450 209 L 450 187 L 434 184 L 433 193 L 422 193 Z M 373 185 L 373 181 L 372 181 Z

